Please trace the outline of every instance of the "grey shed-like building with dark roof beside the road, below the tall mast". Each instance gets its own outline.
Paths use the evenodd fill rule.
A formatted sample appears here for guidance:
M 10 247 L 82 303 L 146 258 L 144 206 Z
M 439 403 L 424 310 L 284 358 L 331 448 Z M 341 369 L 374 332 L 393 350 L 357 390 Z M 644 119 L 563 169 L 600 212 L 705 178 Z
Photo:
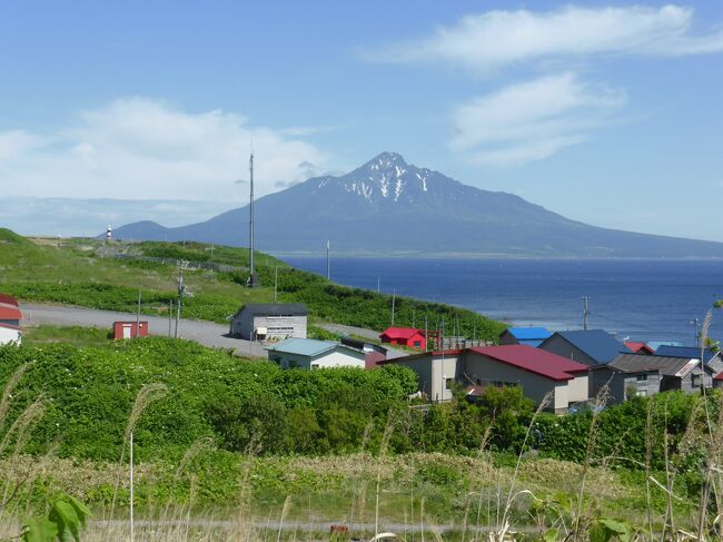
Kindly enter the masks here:
M 306 338 L 303 303 L 247 303 L 231 318 L 230 335 L 247 341 Z

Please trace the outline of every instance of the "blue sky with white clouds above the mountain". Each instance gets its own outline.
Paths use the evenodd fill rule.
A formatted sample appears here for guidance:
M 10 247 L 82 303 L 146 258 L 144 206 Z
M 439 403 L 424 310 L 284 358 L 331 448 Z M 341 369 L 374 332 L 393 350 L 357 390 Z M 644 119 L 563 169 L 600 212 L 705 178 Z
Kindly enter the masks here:
M 1 197 L 26 198 L 0 221 L 23 233 L 52 229 L 27 197 L 153 201 L 106 220 L 63 200 L 63 234 L 241 205 L 252 139 L 260 194 L 393 150 L 574 219 L 723 242 L 719 1 L 6 2 L 0 73 Z

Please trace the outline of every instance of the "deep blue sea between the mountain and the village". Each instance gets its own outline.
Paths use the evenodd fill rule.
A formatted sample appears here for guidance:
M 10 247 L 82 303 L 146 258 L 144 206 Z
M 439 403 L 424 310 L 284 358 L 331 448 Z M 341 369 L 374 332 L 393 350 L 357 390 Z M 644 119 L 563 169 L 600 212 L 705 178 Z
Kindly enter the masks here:
M 326 258 L 285 257 L 326 275 Z M 336 283 L 469 308 L 514 325 L 553 331 L 582 328 L 582 296 L 590 296 L 587 327 L 621 339 L 695 344 L 703 321 L 723 298 L 723 260 L 559 260 L 331 258 Z M 723 309 L 710 336 L 723 338 Z

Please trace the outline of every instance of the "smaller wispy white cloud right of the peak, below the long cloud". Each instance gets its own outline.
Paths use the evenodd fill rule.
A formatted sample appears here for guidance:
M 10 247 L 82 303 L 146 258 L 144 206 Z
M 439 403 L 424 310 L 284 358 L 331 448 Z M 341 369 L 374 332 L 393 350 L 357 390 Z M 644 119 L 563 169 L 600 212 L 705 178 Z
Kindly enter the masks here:
M 485 165 L 541 160 L 588 139 L 625 102 L 623 90 L 586 85 L 572 73 L 512 85 L 454 111 L 449 148 Z

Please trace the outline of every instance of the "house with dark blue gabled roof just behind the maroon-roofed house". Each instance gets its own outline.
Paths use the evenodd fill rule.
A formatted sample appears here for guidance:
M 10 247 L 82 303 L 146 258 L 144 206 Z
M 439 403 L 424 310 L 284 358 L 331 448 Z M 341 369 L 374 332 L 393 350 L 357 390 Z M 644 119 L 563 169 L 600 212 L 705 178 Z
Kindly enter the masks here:
M 590 366 L 610 363 L 621 353 L 631 352 L 603 329 L 556 332 L 539 348 Z

